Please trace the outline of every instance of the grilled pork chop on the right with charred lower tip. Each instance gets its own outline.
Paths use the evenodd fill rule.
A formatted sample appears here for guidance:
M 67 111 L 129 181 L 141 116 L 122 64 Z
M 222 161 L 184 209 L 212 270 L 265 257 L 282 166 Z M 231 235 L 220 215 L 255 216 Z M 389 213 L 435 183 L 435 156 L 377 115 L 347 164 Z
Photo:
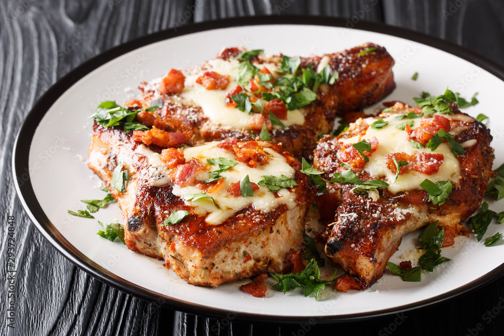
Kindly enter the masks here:
M 339 202 L 332 209 L 335 218 L 328 228 L 326 254 L 366 286 L 382 277 L 404 234 L 439 221 L 439 226 L 445 228 L 443 247 L 453 245 L 456 235 L 467 232 L 462 223 L 481 204 L 493 174 L 492 137 L 481 122 L 460 112 L 456 104 L 451 104 L 451 109 L 454 114 L 420 117 L 420 108 L 396 103 L 388 112 L 359 119 L 343 135 L 326 136 L 318 144 L 314 167 L 324 171 L 328 179 L 342 172 L 350 177 L 350 168 L 361 181 L 379 179 L 389 183 L 386 188 L 360 193 L 351 190 L 356 185 L 348 179 L 328 186 Z M 406 116 L 410 111 L 415 114 Z M 370 127 L 379 118 L 388 124 Z M 401 125 L 404 122 L 409 124 Z M 422 146 L 440 129 L 449 132 L 465 153 L 455 156 L 446 140 L 433 151 Z M 370 152 L 363 152 L 369 162 L 352 146 L 362 140 L 371 145 Z M 399 168 L 397 181 L 393 159 L 408 162 Z M 347 166 L 342 167 L 342 163 Z M 429 194 L 419 186 L 424 179 L 453 184 L 443 204 L 429 201 Z M 326 202 L 325 206 L 330 205 Z

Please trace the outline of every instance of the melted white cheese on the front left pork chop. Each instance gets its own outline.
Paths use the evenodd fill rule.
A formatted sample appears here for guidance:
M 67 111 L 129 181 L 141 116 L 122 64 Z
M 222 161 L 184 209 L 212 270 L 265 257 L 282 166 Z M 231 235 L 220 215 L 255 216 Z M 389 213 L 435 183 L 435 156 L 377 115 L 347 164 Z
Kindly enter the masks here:
M 266 142 L 259 143 L 264 147 L 271 146 Z M 184 157 L 186 161 L 196 158 L 206 168 L 205 172 L 198 175 L 198 180 L 208 179 L 208 171 L 219 169 L 218 166 L 207 163 L 207 159 L 222 157 L 237 162 L 234 167 L 229 168 L 227 171 L 220 174 L 225 177 L 225 179 L 219 188 L 213 192 L 208 192 L 208 195 L 213 197 L 220 209 L 214 205 L 212 199 L 210 198 L 200 198 L 196 201 L 185 201 L 186 204 L 194 207 L 195 214 L 199 216 L 206 216 L 205 221 L 210 225 L 218 225 L 249 205 L 252 205 L 255 210 L 263 213 L 269 213 L 282 204 L 285 204 L 288 209 L 294 209 L 296 207 L 296 194 L 285 188 L 277 191 L 279 197 L 276 197 L 275 194 L 269 191 L 269 189 L 265 186 L 259 186 L 259 190 L 254 191 L 254 196 L 249 197 L 235 197 L 227 192 L 231 183 L 239 182 L 240 179 L 247 174 L 250 182 L 254 183 L 258 183 L 263 180 L 263 175 L 274 175 L 280 177 L 282 174 L 289 178 L 294 178 L 294 168 L 287 163 L 286 159 L 281 154 L 278 154 L 270 148 L 265 148 L 264 151 L 269 155 L 269 163 L 264 166 L 258 165 L 257 168 L 250 168 L 246 164 L 236 161 L 236 156 L 234 154 L 217 148 L 217 144 L 219 144 L 219 142 L 212 142 L 203 146 L 184 149 Z M 165 183 L 164 185 L 171 182 L 169 176 L 166 175 L 167 171 L 163 170 L 163 163 L 159 161 L 158 154 L 147 149 L 145 146 L 139 146 L 136 152 L 149 159 L 150 167 L 147 172 L 148 174 L 153 173 L 149 182 L 150 185 L 159 186 L 163 185 L 163 182 Z M 161 163 L 161 167 L 158 166 L 159 163 Z M 159 174 L 163 171 L 165 172 L 165 176 L 160 177 Z M 172 188 L 173 194 L 179 196 L 180 198 L 190 194 L 203 192 L 196 186 L 180 187 L 173 184 Z

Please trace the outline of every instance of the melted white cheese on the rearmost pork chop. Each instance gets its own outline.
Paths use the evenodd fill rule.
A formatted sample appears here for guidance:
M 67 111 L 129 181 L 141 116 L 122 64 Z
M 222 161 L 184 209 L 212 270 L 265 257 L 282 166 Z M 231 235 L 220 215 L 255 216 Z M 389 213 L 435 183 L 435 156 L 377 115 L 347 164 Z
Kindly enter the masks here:
M 180 96 L 186 100 L 187 104 L 194 104 L 202 108 L 203 113 L 210 120 L 223 126 L 230 126 L 236 129 L 250 129 L 250 115 L 240 111 L 234 107 L 227 107 L 225 100 L 227 94 L 233 90 L 237 83 L 234 78 L 238 75 L 237 66 L 239 61 L 236 59 L 212 59 L 208 61 L 206 69 L 198 72 L 185 74 L 184 89 Z M 268 70 L 274 74 L 274 64 L 256 64 L 259 68 L 266 66 Z M 196 83 L 198 77 L 202 76 L 207 71 L 215 71 L 220 75 L 229 76 L 229 84 L 225 90 L 207 90 L 200 84 Z M 264 106 L 266 101 L 261 99 Z M 304 123 L 304 109 L 296 109 L 287 112 L 287 119 L 282 120 L 285 126 L 302 125 Z M 280 127 L 280 126 L 275 126 Z

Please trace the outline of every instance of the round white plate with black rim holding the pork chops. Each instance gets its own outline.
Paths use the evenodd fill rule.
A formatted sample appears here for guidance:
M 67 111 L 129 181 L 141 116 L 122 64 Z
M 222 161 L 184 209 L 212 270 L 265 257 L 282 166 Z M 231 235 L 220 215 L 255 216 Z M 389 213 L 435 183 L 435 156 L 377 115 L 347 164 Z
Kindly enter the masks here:
M 271 20 L 241 18 L 157 33 L 105 52 L 61 79 L 30 113 L 18 136 L 13 159 L 17 190 L 35 226 L 69 259 L 108 284 L 158 304 L 221 316 L 291 321 L 369 317 L 438 302 L 500 276 L 504 263 L 502 243 L 485 247 L 471 235 L 457 238 L 454 247 L 443 249 L 443 255 L 452 261 L 437 266 L 420 283 L 403 282 L 387 272 L 370 289 L 346 293 L 329 289 L 319 301 L 305 298 L 299 289 L 286 295 L 270 289 L 266 298 L 258 299 L 239 290 L 248 280 L 216 289 L 188 285 L 163 267 L 161 261 L 99 237 L 96 220 L 67 214 L 67 210 L 84 209 L 80 199 L 104 196 L 96 187 L 100 184 L 98 178 L 85 162 L 92 133 L 89 116 L 98 103 L 123 102 L 132 94 L 138 95 L 136 87 L 141 80 L 160 77 L 170 68 L 199 64 L 226 46 L 307 56 L 365 42 L 383 45 L 396 60 L 397 89 L 387 100 L 410 102 L 410 97 L 422 91 L 439 94 L 447 87 L 465 98 L 479 92 L 480 103 L 464 111 L 490 117 L 494 166 L 504 161 L 504 116 L 495 108 L 496 99 L 504 92 L 504 82 L 497 77 L 504 76 L 498 66 L 446 42 L 396 28 L 360 23 L 360 28 L 366 30 L 350 30 L 331 27 L 344 26 L 344 21 L 321 18 L 304 19 L 303 25 L 298 24 L 299 18 L 281 19 L 282 22 L 277 19 L 282 23 L 278 25 L 257 25 Z M 222 28 L 245 24 L 254 26 Z M 209 30 L 214 27 L 220 29 Z M 497 76 L 459 56 L 412 40 L 450 50 Z M 419 73 L 417 81 L 411 80 L 415 72 Z M 490 205 L 497 212 L 501 207 L 502 201 Z M 107 223 L 122 219 L 115 204 L 100 210 L 95 217 Z M 485 237 L 500 228 L 491 224 Z M 408 234 L 391 261 L 397 262 L 398 255 L 412 248 L 417 236 L 418 232 Z

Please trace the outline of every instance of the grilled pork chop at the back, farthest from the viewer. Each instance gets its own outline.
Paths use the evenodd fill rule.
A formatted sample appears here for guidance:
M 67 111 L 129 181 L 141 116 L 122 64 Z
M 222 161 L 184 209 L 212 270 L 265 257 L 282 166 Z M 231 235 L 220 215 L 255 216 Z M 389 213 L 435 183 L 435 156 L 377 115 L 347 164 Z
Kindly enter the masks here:
M 288 76 L 291 80 L 292 75 L 287 73 L 284 76 L 286 73 L 280 72 L 282 55 L 259 53 L 248 60 L 237 59 L 243 51 L 241 48 L 224 49 L 215 59 L 201 66 L 182 71 L 172 69 L 164 78 L 144 82 L 140 86 L 142 98 L 130 102 L 130 106 L 159 106 L 154 111 L 139 113 L 137 118 L 149 127 L 187 132 L 196 143 L 231 138 L 255 139 L 265 124 L 272 142 L 283 144 L 298 158 L 308 158 L 313 154 L 318 136 L 332 130 L 335 116 L 374 104 L 395 88 L 394 60 L 385 48 L 367 43 L 338 53 L 300 57 L 295 75 L 301 76 L 309 68 L 320 74 L 327 66 L 327 78 L 335 72 L 339 78 L 332 85 L 321 84 L 318 89 L 311 83 L 308 86 L 316 90 L 316 99 L 306 106 L 293 108 L 278 98 L 261 99 L 262 94 L 271 93 L 272 88 L 292 87 L 285 80 Z M 240 86 L 235 81 L 241 76 L 240 69 L 254 69 L 251 67 L 258 74 Z M 272 79 L 269 81 L 259 78 L 270 75 Z M 279 80 L 281 76 L 283 80 Z M 233 95 L 240 94 L 246 95 L 252 103 L 262 102 L 262 112 L 253 105 L 251 112 L 257 113 L 238 109 L 240 106 L 233 100 Z M 245 107 L 241 105 L 242 109 Z M 271 119 L 270 112 L 283 125 Z

